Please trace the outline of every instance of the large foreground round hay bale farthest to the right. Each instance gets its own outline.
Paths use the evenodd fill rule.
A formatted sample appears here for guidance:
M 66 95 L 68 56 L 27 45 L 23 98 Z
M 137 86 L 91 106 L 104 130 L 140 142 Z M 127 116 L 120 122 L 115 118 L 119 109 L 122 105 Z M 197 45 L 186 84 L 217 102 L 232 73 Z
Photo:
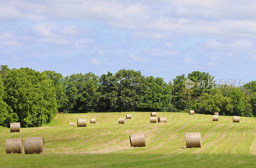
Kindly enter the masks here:
M 201 148 L 201 133 L 189 132 L 186 133 L 186 147 L 187 148 Z

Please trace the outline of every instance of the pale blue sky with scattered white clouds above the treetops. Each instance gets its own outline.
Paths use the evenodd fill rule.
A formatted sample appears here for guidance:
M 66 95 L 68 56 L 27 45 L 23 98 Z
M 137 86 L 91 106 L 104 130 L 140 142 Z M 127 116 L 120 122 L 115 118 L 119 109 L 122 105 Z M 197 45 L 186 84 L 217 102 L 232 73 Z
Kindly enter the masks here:
M 0 64 L 256 80 L 256 1 L 0 0 Z

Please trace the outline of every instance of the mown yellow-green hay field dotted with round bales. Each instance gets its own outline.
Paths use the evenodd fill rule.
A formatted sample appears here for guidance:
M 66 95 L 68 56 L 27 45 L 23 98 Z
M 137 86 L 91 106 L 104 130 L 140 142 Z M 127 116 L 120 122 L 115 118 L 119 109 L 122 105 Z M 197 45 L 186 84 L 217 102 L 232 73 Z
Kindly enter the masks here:
M 132 119 L 118 124 L 131 113 Z M 57 114 L 52 123 L 11 133 L 0 128 L 2 167 L 256 167 L 256 118 L 149 112 Z M 87 127 L 69 126 L 87 118 Z M 91 124 L 90 118 L 96 118 Z M 146 147 L 131 147 L 129 134 L 143 132 Z M 185 134 L 201 132 L 202 148 L 186 148 Z M 43 136 L 43 154 L 5 154 L 5 139 Z

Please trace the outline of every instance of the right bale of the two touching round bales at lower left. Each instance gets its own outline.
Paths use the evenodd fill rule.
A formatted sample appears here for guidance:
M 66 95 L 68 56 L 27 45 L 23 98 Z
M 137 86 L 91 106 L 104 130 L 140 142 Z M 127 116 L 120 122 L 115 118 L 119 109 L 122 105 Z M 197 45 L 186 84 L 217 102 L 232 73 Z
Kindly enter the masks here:
M 43 137 L 28 137 L 25 138 L 24 144 L 25 154 L 42 153 L 44 152 Z

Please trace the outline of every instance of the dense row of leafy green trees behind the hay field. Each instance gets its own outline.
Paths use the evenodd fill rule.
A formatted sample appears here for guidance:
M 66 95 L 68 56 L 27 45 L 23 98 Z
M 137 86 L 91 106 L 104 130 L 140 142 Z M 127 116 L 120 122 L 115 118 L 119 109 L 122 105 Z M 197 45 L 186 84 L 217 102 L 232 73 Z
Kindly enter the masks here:
M 57 112 L 165 111 L 256 116 L 256 81 L 243 87 L 216 84 L 209 73 L 193 71 L 166 83 L 140 71 L 120 69 L 100 77 L 92 72 L 63 77 L 46 70 L 0 68 L 0 125 L 41 126 Z M 187 89 L 186 80 L 194 82 Z M 202 85 L 202 81 L 206 84 Z M 207 86 L 207 87 L 206 87 Z M 211 86 L 211 87 L 209 87 Z

